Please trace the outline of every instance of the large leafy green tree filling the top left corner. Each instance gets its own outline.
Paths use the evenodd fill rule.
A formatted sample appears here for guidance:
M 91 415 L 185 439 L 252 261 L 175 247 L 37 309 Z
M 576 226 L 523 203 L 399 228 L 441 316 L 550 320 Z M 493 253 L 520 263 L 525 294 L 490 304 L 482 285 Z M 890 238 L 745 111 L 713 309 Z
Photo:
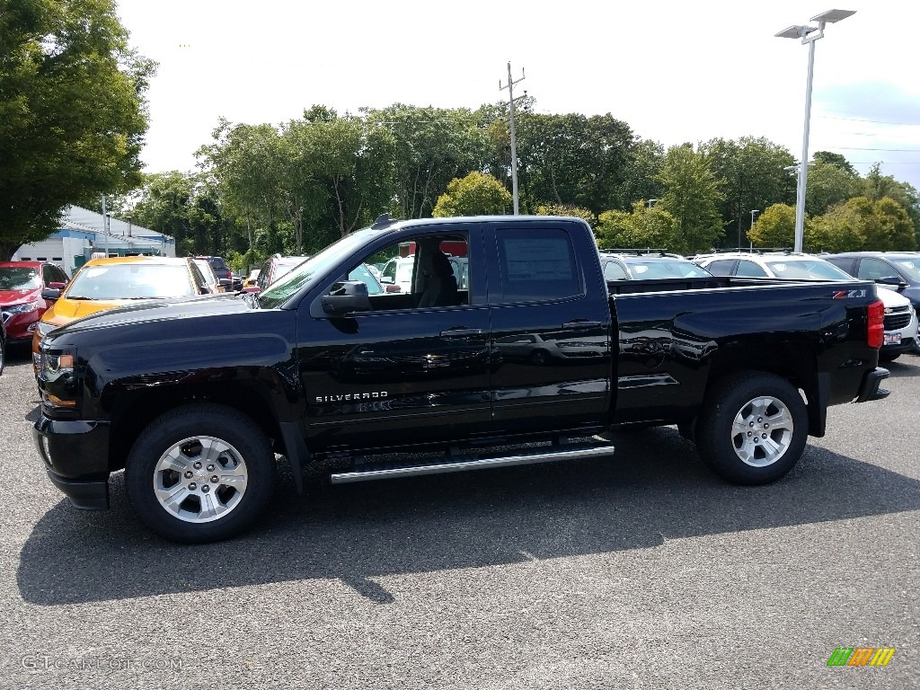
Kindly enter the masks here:
M 111 0 L 0 2 L 0 259 L 140 183 L 154 70 Z

